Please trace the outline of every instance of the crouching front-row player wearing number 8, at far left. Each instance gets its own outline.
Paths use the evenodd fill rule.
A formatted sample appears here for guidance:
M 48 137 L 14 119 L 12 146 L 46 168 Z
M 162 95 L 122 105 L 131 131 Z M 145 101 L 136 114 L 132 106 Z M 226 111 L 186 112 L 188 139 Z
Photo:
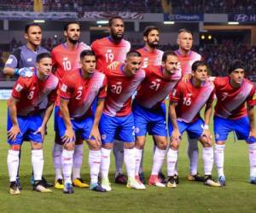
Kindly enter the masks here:
M 54 107 L 58 85 L 58 78 L 51 73 L 51 68 L 49 53 L 39 54 L 32 78 L 18 78 L 8 102 L 7 129 L 10 148 L 7 163 L 11 194 L 20 193 L 16 176 L 20 145 L 25 140 L 30 141 L 32 146 L 33 189 L 42 193 L 51 192 L 42 181 L 44 134 Z

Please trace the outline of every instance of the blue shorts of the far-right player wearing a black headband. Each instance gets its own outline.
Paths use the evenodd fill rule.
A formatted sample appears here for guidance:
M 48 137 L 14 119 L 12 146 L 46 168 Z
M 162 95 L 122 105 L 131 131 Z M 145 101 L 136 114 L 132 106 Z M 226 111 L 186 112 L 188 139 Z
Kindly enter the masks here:
M 250 123 L 247 116 L 238 119 L 221 118 L 214 116 L 213 128 L 215 141 L 226 141 L 231 131 L 236 132 L 238 140 L 245 140 L 247 143 L 255 143 L 256 138 L 249 137 Z

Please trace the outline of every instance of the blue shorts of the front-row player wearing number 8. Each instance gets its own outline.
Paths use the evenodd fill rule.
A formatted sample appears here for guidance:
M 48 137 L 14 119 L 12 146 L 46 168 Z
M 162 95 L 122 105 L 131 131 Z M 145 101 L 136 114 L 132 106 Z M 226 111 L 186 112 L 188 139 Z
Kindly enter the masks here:
M 43 139 L 40 133 L 34 134 L 43 123 L 41 114 L 17 116 L 18 124 L 20 127 L 20 133 L 16 136 L 15 141 L 8 139 L 10 145 L 21 145 L 23 141 L 35 141 L 43 143 Z M 12 128 L 13 124 L 10 118 L 9 110 L 7 114 L 7 131 Z

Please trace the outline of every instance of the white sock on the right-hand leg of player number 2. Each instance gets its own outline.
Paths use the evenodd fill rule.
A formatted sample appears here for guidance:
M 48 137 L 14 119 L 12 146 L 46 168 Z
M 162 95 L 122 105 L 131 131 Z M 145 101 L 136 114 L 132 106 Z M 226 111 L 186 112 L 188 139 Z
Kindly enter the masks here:
M 98 151 L 89 151 L 89 165 L 90 165 L 90 184 L 95 184 L 98 182 L 98 176 L 100 172 L 102 161 L 102 153 Z

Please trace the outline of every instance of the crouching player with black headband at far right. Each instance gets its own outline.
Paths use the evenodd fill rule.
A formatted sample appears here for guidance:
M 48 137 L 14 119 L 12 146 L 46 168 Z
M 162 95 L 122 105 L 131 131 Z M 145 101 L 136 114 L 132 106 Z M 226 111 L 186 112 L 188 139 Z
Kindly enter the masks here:
M 256 129 L 253 109 L 256 105 L 255 86 L 244 78 L 245 65 L 241 60 L 233 60 L 229 72 L 229 77 L 217 77 L 213 81 L 218 100 L 213 122 L 218 182 L 221 186 L 225 186 L 225 141 L 229 133 L 235 131 L 239 140 L 247 141 L 250 182 L 256 184 Z M 247 103 L 247 108 L 245 103 Z

